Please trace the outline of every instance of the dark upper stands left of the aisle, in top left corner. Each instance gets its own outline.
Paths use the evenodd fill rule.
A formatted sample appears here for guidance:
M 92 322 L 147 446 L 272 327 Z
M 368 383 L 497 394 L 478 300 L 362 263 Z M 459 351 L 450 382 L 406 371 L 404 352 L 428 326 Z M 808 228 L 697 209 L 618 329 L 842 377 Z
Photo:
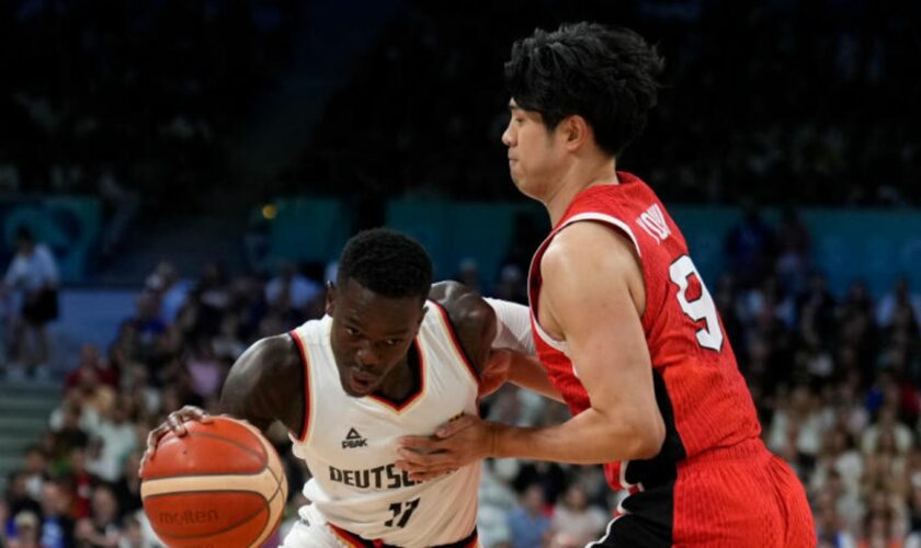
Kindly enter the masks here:
M 0 57 L 0 191 L 195 205 L 220 184 L 220 140 L 286 68 L 299 10 L 285 0 L 4 2 L 0 44 L 27 54 Z

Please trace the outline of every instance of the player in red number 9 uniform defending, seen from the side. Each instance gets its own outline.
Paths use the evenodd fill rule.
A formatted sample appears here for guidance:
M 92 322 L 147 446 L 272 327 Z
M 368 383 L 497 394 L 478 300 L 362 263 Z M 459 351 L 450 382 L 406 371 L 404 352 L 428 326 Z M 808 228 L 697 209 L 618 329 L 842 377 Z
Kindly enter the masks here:
M 646 183 L 615 169 L 661 68 L 640 36 L 598 24 L 512 47 L 502 141 L 515 185 L 554 226 L 531 269 L 533 332 L 573 416 L 541 429 L 467 416 L 444 439 L 403 439 L 398 465 L 424 479 L 490 456 L 604 464 L 633 494 L 589 546 L 815 546 L 803 487 L 759 437 L 684 237 Z

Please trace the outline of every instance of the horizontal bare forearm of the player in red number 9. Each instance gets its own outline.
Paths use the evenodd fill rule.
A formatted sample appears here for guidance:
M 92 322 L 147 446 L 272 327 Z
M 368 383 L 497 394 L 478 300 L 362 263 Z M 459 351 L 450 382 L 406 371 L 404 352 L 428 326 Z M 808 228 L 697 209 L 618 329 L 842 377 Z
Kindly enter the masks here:
M 664 439 L 664 423 L 643 418 L 611 419 L 594 409 L 556 426 L 493 423 L 496 458 L 526 458 L 577 465 L 651 458 Z

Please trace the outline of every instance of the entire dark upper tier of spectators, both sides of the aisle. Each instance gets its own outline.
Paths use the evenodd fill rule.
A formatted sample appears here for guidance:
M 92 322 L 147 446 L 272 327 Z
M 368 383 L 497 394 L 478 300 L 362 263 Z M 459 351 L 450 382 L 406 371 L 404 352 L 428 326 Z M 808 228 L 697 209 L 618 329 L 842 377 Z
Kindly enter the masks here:
M 260 183 L 348 187 L 369 210 L 395 194 L 515 196 L 499 142 L 510 45 L 535 26 L 589 19 L 640 31 L 667 59 L 660 105 L 623 165 L 671 199 L 921 201 L 916 3 L 393 3 L 372 46 L 340 68 L 344 83 L 298 99 L 327 101 L 312 138 L 278 181 Z M 132 207 L 129 191 L 149 207 L 201 206 L 232 179 L 221 176 L 221 140 L 292 70 L 315 8 L 4 4 L 0 39 L 30 55 L 0 59 L 0 189 L 91 191 L 114 208 Z

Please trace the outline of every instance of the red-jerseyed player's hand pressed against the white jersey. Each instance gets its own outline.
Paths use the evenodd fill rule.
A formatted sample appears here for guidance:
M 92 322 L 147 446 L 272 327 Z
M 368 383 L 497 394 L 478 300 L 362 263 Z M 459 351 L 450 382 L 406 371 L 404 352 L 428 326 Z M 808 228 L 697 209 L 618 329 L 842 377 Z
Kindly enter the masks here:
M 498 426 L 474 415 L 464 415 L 439 426 L 432 436 L 401 437 L 397 467 L 409 472 L 413 481 L 452 472 L 490 456 Z

